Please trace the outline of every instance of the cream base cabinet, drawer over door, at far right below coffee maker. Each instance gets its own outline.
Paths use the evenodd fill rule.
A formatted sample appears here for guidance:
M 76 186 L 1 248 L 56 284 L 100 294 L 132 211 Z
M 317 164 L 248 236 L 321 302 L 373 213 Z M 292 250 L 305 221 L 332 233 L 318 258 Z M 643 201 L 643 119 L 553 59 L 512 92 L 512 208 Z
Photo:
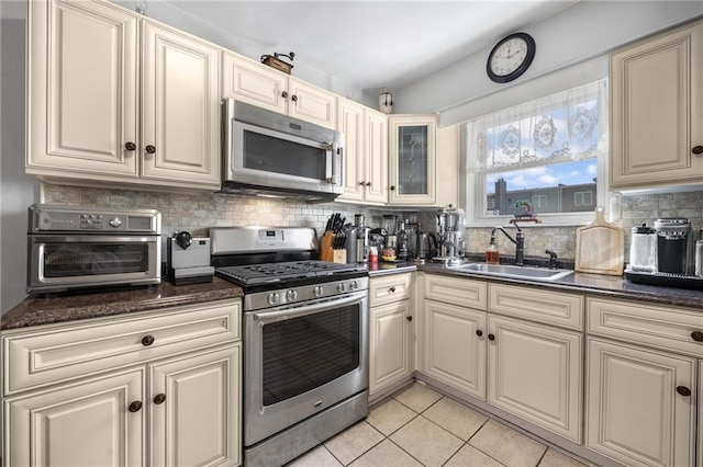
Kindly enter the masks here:
M 694 466 L 701 311 L 587 304 L 587 447 L 631 466 Z

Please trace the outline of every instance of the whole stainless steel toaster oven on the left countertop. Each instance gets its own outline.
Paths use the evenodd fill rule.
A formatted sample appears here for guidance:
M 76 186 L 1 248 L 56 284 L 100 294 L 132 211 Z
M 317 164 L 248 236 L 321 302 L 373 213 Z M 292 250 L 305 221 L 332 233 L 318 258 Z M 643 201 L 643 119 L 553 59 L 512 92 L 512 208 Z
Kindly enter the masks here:
M 160 232 L 158 210 L 34 204 L 26 291 L 158 284 Z

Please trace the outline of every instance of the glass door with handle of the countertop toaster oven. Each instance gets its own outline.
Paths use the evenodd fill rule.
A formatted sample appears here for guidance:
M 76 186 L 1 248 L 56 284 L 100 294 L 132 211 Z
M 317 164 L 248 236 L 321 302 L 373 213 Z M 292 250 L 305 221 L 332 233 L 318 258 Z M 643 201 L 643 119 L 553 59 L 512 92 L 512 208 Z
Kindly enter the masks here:
M 27 293 L 158 284 L 159 236 L 30 235 Z

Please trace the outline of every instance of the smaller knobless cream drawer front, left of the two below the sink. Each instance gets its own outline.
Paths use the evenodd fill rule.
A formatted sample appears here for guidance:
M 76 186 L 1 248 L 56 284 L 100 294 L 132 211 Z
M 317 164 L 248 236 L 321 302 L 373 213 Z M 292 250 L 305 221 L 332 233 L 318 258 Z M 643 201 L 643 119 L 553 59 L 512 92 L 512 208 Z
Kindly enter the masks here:
M 486 310 L 486 283 L 481 281 L 427 274 L 423 292 L 425 299 Z

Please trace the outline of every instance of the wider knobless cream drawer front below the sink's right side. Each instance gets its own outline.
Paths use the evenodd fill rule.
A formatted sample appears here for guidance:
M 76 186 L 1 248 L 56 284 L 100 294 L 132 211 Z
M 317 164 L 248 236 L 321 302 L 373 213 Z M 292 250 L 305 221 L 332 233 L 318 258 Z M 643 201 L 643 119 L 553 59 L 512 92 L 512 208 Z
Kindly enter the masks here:
M 583 330 L 583 296 L 490 284 L 489 311 Z

